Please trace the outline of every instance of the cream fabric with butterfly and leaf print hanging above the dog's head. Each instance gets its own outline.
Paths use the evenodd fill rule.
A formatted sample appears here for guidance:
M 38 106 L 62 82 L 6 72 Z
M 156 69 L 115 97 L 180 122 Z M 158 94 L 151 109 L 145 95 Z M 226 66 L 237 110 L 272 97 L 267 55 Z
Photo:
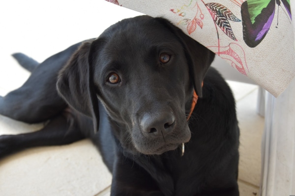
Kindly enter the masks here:
M 108 1 L 170 20 L 275 97 L 295 77 L 294 1 Z

